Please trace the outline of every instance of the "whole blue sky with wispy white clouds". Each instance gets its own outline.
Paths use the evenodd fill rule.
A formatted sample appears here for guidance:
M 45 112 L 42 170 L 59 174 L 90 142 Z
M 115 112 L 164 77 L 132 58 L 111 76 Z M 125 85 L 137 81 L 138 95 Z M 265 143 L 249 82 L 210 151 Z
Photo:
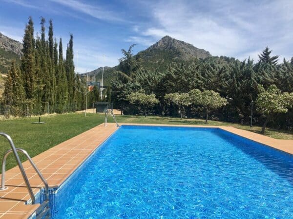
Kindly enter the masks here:
M 29 16 L 36 32 L 41 16 L 52 18 L 64 50 L 73 33 L 80 73 L 101 67 L 103 54 L 115 66 L 122 48 L 137 43 L 137 53 L 166 35 L 240 60 L 269 46 L 282 60 L 293 56 L 292 11 L 293 0 L 0 0 L 0 32 L 21 41 Z

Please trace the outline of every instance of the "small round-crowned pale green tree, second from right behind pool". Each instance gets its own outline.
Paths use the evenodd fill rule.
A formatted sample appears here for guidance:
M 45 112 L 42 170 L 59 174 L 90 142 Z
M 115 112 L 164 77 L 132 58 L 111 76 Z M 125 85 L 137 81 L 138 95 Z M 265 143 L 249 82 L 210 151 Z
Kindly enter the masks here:
M 194 89 L 189 91 L 189 97 L 191 103 L 194 105 L 202 106 L 206 113 L 206 124 L 208 124 L 209 113 L 211 110 L 217 110 L 227 104 L 227 99 L 220 96 L 218 92 L 215 91 L 200 91 Z

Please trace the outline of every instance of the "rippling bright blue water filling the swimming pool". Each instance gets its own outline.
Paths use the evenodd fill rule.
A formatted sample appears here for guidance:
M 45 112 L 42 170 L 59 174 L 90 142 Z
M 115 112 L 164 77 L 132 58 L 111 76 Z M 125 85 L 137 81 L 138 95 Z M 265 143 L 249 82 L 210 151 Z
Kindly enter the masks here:
M 293 156 L 218 128 L 122 126 L 51 208 L 56 219 L 293 218 Z

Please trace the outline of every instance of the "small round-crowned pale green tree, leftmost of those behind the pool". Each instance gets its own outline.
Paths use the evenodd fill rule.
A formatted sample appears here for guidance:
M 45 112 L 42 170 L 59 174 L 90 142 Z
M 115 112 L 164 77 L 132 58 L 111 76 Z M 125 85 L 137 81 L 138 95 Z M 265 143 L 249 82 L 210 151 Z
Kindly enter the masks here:
M 146 110 L 159 103 L 155 94 L 145 94 L 143 90 L 133 92 L 127 96 L 128 100 L 132 104 L 138 104 L 142 107 L 146 117 Z

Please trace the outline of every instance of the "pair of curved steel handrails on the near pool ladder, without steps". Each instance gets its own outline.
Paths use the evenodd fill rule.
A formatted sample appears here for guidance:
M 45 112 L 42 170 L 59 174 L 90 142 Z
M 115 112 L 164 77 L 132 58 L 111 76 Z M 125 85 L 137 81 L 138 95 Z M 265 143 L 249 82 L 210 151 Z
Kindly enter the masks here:
M 3 157 L 3 161 L 2 161 L 2 179 L 1 179 L 2 182 L 1 182 L 0 190 L 4 190 L 4 189 L 6 189 L 6 187 L 5 187 L 5 165 L 6 165 L 6 158 L 7 158 L 8 154 L 10 154 L 11 152 L 13 152 L 13 154 L 14 154 L 14 156 L 15 156 L 15 159 L 16 159 L 16 161 L 17 161 L 17 164 L 18 164 L 18 166 L 19 166 L 19 168 L 20 168 L 22 178 L 23 178 L 23 180 L 24 180 L 24 183 L 25 183 L 26 188 L 27 188 L 27 190 L 28 190 L 28 193 L 29 193 L 29 195 L 30 195 L 30 198 L 31 198 L 32 204 L 35 204 L 35 203 L 36 203 L 36 199 L 35 199 L 35 195 L 34 195 L 34 193 L 33 193 L 32 187 L 31 187 L 31 185 L 30 185 L 30 183 L 29 183 L 29 181 L 28 181 L 28 178 L 27 178 L 26 173 L 25 173 L 25 171 L 24 171 L 23 165 L 21 164 L 20 157 L 19 157 L 19 155 L 18 155 L 18 153 L 17 153 L 17 151 L 20 151 L 20 152 L 22 152 L 22 153 L 27 157 L 27 159 L 28 159 L 29 162 L 32 164 L 32 166 L 33 166 L 33 168 L 35 169 L 35 171 L 38 173 L 38 175 L 39 175 L 39 177 L 41 178 L 42 182 L 44 183 L 45 188 L 46 188 L 46 197 L 45 197 L 45 199 L 46 199 L 46 201 L 48 201 L 48 200 L 49 200 L 49 186 L 48 186 L 48 183 L 47 183 L 46 180 L 43 178 L 42 173 L 39 171 L 39 169 L 37 168 L 37 166 L 34 164 L 34 162 L 32 161 L 32 159 L 31 159 L 30 156 L 28 155 L 28 153 L 27 153 L 25 150 L 21 149 L 21 148 L 16 148 L 16 147 L 14 146 L 14 143 L 13 143 L 11 137 L 10 137 L 8 134 L 6 134 L 6 133 L 4 133 L 4 132 L 0 132 L 0 135 L 3 136 L 3 137 L 5 137 L 5 138 L 8 140 L 8 142 L 9 142 L 9 144 L 10 144 L 10 146 L 11 146 L 11 149 L 9 149 L 9 150 L 5 153 L 5 155 L 4 155 L 4 157 Z

